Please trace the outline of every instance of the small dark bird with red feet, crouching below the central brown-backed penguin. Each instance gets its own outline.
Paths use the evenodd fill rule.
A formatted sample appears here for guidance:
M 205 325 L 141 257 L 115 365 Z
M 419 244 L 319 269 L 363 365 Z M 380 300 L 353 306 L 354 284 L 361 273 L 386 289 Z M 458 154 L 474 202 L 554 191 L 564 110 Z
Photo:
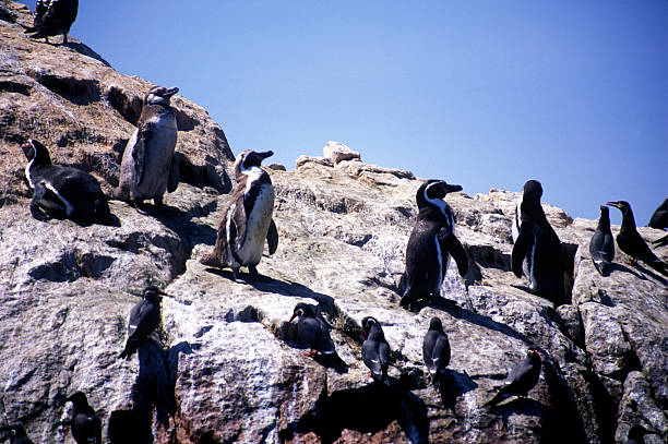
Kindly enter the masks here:
M 313 305 L 297 303 L 288 324 L 291 324 L 295 317 L 297 317 L 297 340 L 310 348 L 310 351 L 305 352 L 303 356 L 324 355 L 337 371 L 345 371 L 347 364 L 336 353 L 334 341 L 330 336 L 330 326 L 315 315 Z

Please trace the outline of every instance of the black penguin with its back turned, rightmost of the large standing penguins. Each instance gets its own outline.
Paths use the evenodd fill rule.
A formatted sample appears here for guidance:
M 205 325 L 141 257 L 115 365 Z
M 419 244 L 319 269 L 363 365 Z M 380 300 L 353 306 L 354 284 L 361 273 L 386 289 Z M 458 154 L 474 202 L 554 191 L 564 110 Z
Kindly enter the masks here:
M 515 209 L 512 271 L 520 278 L 523 272 L 528 276 L 530 292 L 557 304 L 566 303 L 561 241 L 542 211 L 541 195 L 537 180 L 524 184 Z

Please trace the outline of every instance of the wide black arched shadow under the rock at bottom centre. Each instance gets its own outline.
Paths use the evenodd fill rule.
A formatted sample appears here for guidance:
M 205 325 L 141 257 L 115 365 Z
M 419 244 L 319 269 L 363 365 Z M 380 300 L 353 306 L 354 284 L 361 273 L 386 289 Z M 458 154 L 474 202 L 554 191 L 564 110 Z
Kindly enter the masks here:
M 427 406 L 396 384 L 378 382 L 358 388 L 323 394 L 315 407 L 278 433 L 282 441 L 296 434 L 315 433 L 322 443 L 333 443 L 344 430 L 374 434 L 396 421 L 411 443 L 429 441 Z

